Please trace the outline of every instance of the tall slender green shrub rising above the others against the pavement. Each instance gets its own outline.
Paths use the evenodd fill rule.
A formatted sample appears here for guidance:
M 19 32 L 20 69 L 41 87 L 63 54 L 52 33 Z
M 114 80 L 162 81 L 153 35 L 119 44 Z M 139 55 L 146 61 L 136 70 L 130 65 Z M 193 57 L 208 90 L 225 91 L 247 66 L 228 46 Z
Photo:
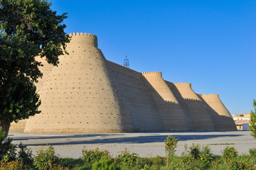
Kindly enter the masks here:
M 167 158 L 167 166 L 169 166 L 169 162 L 172 157 L 175 155 L 175 148 L 177 147 L 178 139 L 173 136 L 166 137 L 166 140 L 164 140 L 165 144 L 165 152 L 166 152 L 166 158 Z

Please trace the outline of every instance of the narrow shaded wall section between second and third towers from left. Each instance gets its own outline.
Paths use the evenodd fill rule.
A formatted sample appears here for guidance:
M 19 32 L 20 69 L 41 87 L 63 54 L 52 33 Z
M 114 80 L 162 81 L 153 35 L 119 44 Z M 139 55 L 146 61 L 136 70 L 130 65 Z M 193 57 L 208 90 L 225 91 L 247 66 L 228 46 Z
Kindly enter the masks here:
M 169 86 L 171 91 L 174 93 L 174 96 L 176 97 L 179 105 L 181 106 L 181 108 L 183 109 L 183 112 L 185 113 L 186 120 L 187 120 L 187 123 L 188 123 L 188 129 L 189 130 L 195 130 L 194 125 L 193 125 L 193 120 L 192 120 L 192 117 L 191 117 L 191 113 L 188 109 L 188 106 L 186 105 L 186 101 L 181 96 L 181 93 L 178 91 L 178 89 L 176 88 L 174 83 L 172 83 L 170 81 L 165 81 L 165 82 Z

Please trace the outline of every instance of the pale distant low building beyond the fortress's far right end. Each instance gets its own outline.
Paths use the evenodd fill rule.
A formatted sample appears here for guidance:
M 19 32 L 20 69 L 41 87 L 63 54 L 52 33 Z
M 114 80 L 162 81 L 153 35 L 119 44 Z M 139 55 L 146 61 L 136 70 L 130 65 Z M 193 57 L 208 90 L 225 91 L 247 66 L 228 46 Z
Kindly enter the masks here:
M 248 130 L 250 125 L 250 113 L 241 113 L 232 115 L 238 130 Z

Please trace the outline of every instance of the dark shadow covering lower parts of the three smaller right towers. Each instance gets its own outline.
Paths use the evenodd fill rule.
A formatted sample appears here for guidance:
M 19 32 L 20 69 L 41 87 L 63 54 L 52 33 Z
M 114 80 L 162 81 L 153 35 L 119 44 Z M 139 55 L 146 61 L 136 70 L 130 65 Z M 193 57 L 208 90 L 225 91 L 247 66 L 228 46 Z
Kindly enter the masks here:
M 223 113 L 217 113 L 198 94 L 195 95 L 198 96 L 199 100 L 183 98 L 176 86 L 169 81 L 165 81 L 165 83 L 169 86 L 168 90 L 174 96 L 170 98 L 171 101 L 165 101 L 161 97 L 161 94 L 159 94 L 159 89 L 154 89 L 151 83 L 143 78 L 143 76 L 142 79 L 154 97 L 164 125 L 164 130 L 236 130 L 233 118 L 231 116 L 221 115 L 226 112 L 226 114 L 230 115 L 228 110 L 224 109 L 225 111 L 222 111 Z M 219 106 L 223 106 L 221 101 L 217 103 Z M 191 115 L 191 112 L 193 115 Z

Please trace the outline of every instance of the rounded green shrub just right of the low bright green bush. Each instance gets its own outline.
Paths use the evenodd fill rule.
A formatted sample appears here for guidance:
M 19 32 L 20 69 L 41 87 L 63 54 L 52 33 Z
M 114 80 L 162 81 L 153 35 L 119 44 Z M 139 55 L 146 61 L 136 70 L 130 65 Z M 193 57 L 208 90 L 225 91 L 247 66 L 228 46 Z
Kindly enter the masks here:
M 129 151 L 127 151 L 127 148 L 122 151 L 121 154 L 118 155 L 116 161 L 121 163 L 124 166 L 132 166 L 137 162 L 138 154 L 130 154 Z

